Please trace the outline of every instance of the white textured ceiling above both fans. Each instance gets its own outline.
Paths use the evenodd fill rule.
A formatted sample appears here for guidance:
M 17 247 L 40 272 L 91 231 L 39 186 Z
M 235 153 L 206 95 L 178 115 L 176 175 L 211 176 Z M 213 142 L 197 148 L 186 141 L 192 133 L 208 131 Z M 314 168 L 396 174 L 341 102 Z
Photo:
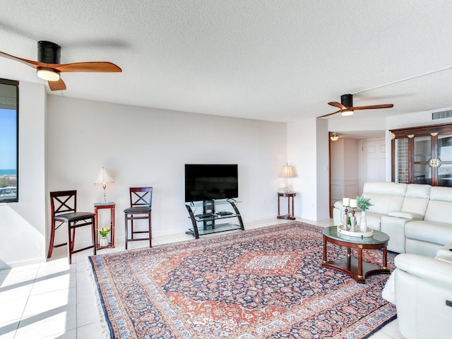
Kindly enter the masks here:
M 452 69 L 367 90 L 452 66 L 451 13 L 448 0 L 2 0 L 0 51 L 36 60 L 48 40 L 61 63 L 123 70 L 62 73 L 51 94 L 65 97 L 269 121 L 334 112 L 345 93 L 394 104 L 359 119 L 452 107 Z M 5 58 L 0 78 L 44 83 Z

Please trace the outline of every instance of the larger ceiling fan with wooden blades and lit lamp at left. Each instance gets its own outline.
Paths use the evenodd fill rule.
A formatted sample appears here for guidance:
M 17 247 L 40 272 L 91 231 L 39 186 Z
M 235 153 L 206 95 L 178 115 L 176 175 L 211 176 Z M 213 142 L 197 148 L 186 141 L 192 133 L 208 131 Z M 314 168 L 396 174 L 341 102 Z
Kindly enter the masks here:
M 20 61 L 36 69 L 37 76 L 47 80 L 51 90 L 66 90 L 66 84 L 60 78 L 63 72 L 121 72 L 115 64 L 107 61 L 76 62 L 60 64 L 61 47 L 54 42 L 37 42 L 37 61 L 14 57 L 11 54 L 0 52 L 1 57 Z

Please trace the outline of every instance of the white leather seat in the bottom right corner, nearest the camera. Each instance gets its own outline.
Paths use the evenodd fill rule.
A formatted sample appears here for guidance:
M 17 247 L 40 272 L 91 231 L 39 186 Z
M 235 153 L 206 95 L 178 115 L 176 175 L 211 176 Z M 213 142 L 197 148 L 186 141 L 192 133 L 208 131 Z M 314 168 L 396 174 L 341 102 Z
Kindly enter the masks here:
M 450 246 L 437 258 L 399 254 L 394 271 L 398 328 L 403 338 L 451 338 L 452 261 Z M 441 252 L 448 252 L 441 255 Z

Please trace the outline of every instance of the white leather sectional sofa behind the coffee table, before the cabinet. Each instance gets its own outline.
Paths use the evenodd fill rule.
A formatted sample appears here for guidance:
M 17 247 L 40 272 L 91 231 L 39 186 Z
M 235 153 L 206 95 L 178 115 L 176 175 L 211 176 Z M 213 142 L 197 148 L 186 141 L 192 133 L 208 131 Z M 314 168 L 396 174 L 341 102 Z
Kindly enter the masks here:
M 452 187 L 367 182 L 362 195 L 373 204 L 367 227 L 389 235 L 389 251 L 433 257 L 441 246 L 452 244 Z M 345 208 L 342 201 L 334 206 L 334 224 L 341 225 Z

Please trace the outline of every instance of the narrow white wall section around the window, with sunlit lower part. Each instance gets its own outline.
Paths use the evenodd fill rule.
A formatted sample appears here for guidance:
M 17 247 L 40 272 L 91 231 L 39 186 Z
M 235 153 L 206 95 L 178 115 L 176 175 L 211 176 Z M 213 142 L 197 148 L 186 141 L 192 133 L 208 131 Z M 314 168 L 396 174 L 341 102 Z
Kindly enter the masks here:
M 45 89 L 19 84 L 19 202 L 0 204 L 0 269 L 45 260 Z

